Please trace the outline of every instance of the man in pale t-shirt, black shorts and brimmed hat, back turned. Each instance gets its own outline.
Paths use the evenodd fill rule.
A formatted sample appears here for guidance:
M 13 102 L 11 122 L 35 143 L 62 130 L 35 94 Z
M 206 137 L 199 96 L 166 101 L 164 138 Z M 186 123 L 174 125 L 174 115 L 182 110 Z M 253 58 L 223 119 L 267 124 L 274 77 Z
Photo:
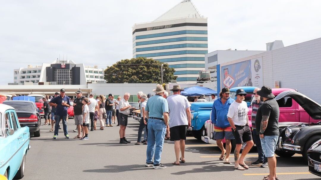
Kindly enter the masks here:
M 180 95 L 181 91 L 179 85 L 174 85 L 173 95 L 167 98 L 169 107 L 169 131 L 170 140 L 174 141 L 174 150 L 176 160 L 173 165 L 179 165 L 179 162 L 185 163 L 185 140 L 187 127 L 191 126 L 191 104 L 185 96 Z M 179 150 L 181 157 L 179 157 Z

